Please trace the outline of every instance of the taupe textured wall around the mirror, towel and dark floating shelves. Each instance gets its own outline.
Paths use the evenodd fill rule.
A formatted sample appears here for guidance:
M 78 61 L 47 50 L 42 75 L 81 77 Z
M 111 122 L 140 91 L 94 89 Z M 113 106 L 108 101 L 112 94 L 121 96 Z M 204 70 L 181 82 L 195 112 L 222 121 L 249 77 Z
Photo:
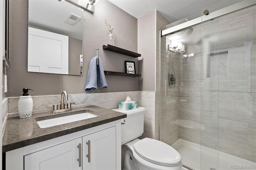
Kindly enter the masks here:
M 48 73 L 30 73 L 27 71 L 28 49 L 28 0 L 10 1 L 10 64 L 8 69 L 8 97 L 20 96 L 22 88 L 34 89 L 30 95 L 56 95 L 66 90 L 68 94 L 85 93 L 84 87 L 88 67 L 92 57 L 99 48 L 104 70 L 124 72 L 124 61 L 135 61 L 138 70 L 138 59 L 103 51 L 102 45 L 108 43 L 107 20 L 114 26 L 115 46 L 137 52 L 137 19 L 124 12 L 107 0 L 99 1 L 95 13 L 84 11 L 84 75 L 58 75 Z M 100 92 L 137 91 L 138 78 L 106 76 L 108 88 Z

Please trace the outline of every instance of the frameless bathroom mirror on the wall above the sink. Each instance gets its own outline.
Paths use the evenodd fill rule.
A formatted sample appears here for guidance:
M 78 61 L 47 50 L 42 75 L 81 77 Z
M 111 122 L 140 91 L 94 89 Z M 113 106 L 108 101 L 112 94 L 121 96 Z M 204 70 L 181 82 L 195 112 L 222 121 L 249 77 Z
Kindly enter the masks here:
M 83 10 L 64 0 L 28 1 L 28 71 L 82 75 Z

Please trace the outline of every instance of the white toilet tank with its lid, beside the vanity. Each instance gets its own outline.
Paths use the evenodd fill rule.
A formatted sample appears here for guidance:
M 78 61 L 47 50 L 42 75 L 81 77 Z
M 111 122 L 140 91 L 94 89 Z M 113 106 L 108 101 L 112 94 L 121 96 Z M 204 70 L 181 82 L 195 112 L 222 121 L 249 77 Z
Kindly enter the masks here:
M 121 125 L 122 144 L 130 142 L 142 135 L 144 130 L 145 108 L 138 107 L 138 109 L 132 109 L 130 111 L 122 111 L 119 109 L 112 110 L 127 114 L 127 117 L 124 118 L 124 125 Z

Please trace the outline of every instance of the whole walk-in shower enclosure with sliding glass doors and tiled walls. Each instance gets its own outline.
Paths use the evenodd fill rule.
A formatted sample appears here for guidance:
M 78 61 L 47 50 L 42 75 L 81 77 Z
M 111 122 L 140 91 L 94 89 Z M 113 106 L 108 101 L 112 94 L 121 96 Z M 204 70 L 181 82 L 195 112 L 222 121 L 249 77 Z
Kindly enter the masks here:
M 214 4 L 162 28 L 160 140 L 191 169 L 256 170 L 255 4 Z

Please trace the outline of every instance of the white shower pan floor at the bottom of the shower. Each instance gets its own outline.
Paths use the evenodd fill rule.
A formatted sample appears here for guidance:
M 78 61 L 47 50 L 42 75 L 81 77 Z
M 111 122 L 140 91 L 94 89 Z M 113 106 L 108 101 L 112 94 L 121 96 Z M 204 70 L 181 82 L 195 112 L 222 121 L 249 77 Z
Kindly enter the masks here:
M 254 166 L 254 168 L 250 168 L 250 170 L 256 170 L 256 162 L 184 139 L 176 140 L 171 146 L 176 149 L 182 157 L 182 170 L 230 170 L 232 169 L 231 165 Z

